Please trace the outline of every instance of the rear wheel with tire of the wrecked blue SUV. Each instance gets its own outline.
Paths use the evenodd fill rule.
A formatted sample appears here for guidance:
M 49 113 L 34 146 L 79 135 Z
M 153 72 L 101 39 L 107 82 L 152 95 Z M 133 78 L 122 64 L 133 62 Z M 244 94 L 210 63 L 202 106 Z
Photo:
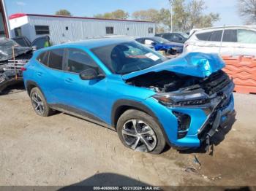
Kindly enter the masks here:
M 48 106 L 44 95 L 38 87 L 34 87 L 30 92 L 31 104 L 34 108 L 34 112 L 42 117 L 48 117 L 53 114 L 53 109 Z

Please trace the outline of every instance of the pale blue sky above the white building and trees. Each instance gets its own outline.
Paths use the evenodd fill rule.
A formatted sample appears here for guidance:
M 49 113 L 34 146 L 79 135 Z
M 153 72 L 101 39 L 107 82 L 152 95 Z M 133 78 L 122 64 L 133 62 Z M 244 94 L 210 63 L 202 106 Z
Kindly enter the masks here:
M 187 0 L 189 1 L 189 0 Z M 205 0 L 208 12 L 219 13 L 221 20 L 214 26 L 241 25 L 237 12 L 238 0 Z M 74 16 L 92 17 L 97 13 L 124 9 L 132 14 L 140 9 L 169 7 L 167 0 L 5 0 L 8 15 L 17 12 L 54 15 L 59 9 L 68 9 Z

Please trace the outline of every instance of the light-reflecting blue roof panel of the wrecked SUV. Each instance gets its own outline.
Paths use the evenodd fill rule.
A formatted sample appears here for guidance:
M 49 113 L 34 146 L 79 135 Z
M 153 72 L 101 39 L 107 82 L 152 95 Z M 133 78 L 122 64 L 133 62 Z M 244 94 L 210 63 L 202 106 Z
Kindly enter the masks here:
M 79 42 L 69 42 L 65 44 L 58 44 L 53 47 L 86 47 L 88 49 L 95 47 L 104 47 L 111 44 L 118 44 L 122 42 L 131 42 L 132 39 L 127 38 L 101 38 L 101 39 L 89 39 Z

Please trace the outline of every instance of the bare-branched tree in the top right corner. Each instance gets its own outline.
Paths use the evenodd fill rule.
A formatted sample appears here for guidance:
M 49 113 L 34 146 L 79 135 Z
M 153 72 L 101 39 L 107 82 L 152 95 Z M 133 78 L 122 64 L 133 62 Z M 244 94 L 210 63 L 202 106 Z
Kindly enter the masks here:
M 246 24 L 256 23 L 256 0 L 238 0 L 238 10 Z

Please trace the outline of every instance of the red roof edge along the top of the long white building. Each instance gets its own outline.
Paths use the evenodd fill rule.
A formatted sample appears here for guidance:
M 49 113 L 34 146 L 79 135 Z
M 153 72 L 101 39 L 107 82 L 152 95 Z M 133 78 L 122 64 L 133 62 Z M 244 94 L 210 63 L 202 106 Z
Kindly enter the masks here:
M 121 20 L 121 19 L 106 19 L 106 18 L 94 18 L 94 17 L 73 17 L 73 16 L 63 16 L 63 15 L 39 15 L 39 14 L 26 14 L 26 13 L 15 13 L 9 16 L 9 20 L 18 17 L 59 17 L 59 18 L 75 18 L 75 19 L 85 19 L 85 20 L 116 20 L 116 21 L 127 21 L 127 22 L 139 22 L 139 23 L 154 23 L 153 21 L 146 20 Z

